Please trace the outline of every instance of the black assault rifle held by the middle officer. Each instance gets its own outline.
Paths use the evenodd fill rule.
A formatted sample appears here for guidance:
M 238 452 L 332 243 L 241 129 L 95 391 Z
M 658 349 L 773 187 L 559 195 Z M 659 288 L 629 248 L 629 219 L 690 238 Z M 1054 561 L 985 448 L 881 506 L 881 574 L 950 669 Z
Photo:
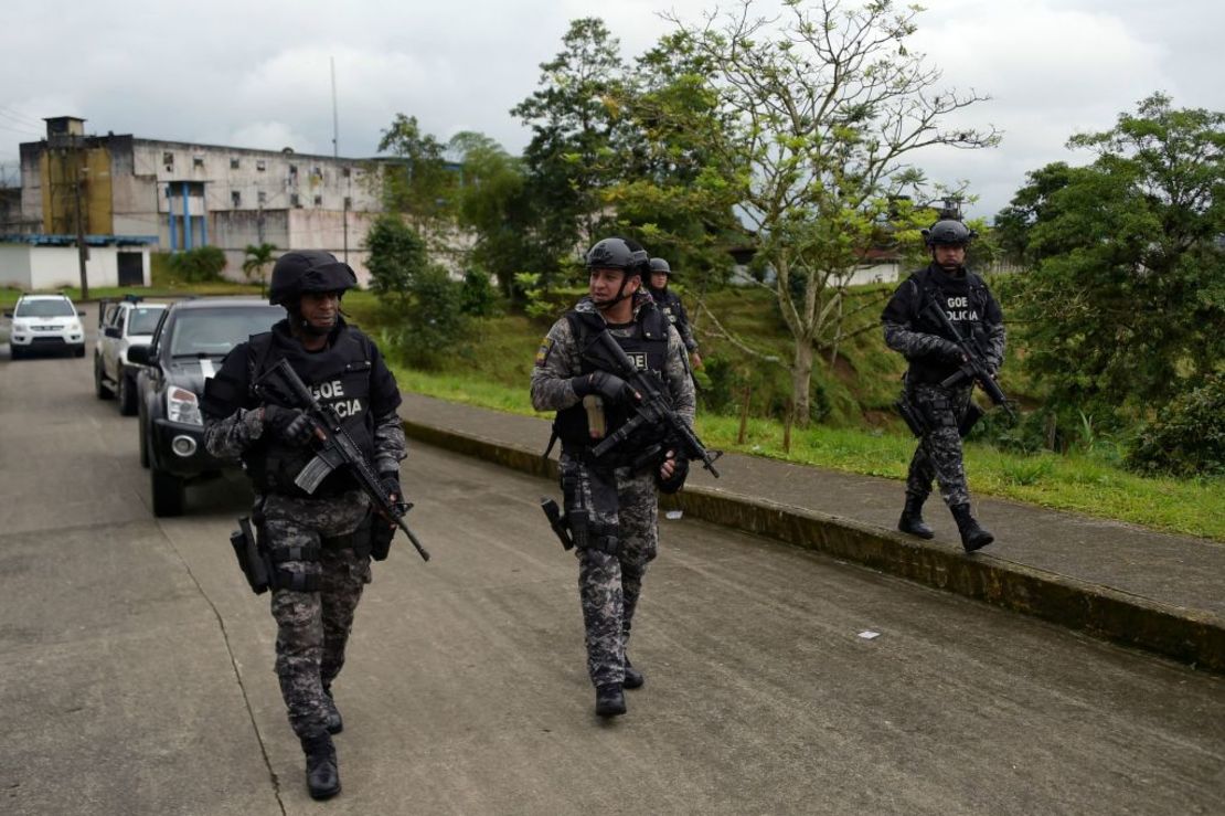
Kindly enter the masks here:
M 665 425 L 680 442 L 680 447 L 690 461 L 696 459 L 702 462 L 702 467 L 709 470 L 715 478 L 719 478 L 719 472 L 714 469 L 714 462 L 723 456 L 723 451 L 706 450 L 702 440 L 673 410 L 670 401 L 655 383 L 655 379 L 648 376 L 646 371 L 638 369 L 630 360 L 625 349 L 617 346 L 617 342 L 612 339 L 608 330 L 595 332 L 587 343 L 587 347 L 583 348 L 582 354 L 595 368 L 617 375 L 631 388 L 642 395 L 642 401 L 635 406 L 635 415 L 614 431 L 611 436 L 592 448 L 592 455 L 597 459 L 627 440 L 643 425 Z

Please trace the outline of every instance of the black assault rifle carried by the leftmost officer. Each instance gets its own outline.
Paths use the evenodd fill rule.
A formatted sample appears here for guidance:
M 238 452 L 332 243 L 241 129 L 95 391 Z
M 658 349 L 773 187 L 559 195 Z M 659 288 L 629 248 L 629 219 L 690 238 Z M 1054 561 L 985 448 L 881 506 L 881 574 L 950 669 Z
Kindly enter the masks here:
M 256 381 L 256 387 L 267 387 L 266 383 L 270 379 L 279 380 L 282 385 L 289 388 L 290 404 L 296 404 L 305 410 L 315 420 L 316 426 L 323 433 L 325 437 L 318 453 L 306 463 L 306 467 L 294 479 L 294 484 L 307 494 L 312 494 L 330 473 L 342 466 L 348 466 L 349 472 L 358 482 L 358 486 L 370 496 L 370 501 L 374 502 L 379 515 L 404 531 L 408 540 L 417 548 L 421 559 L 429 561 L 430 554 L 425 551 L 417 535 L 413 534 L 413 531 L 404 522 L 404 516 L 413 508 L 412 502 L 403 501 L 403 496 L 392 500 L 391 494 L 383 489 L 379 474 L 375 473 L 370 462 L 366 461 L 361 448 L 356 446 L 353 437 L 344 430 L 336 409 L 320 404 L 315 395 L 306 387 L 306 383 L 298 376 L 298 372 L 289 365 L 289 360 L 284 358 L 278 360 L 276 365 Z M 383 555 L 386 556 L 386 553 Z

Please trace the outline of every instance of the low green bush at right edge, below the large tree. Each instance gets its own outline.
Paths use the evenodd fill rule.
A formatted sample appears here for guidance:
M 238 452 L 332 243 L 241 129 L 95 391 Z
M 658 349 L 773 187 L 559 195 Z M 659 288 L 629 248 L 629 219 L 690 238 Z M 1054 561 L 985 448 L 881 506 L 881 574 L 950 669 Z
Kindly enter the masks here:
M 1140 429 L 1126 464 L 1140 473 L 1225 475 L 1225 375 L 1210 375 Z

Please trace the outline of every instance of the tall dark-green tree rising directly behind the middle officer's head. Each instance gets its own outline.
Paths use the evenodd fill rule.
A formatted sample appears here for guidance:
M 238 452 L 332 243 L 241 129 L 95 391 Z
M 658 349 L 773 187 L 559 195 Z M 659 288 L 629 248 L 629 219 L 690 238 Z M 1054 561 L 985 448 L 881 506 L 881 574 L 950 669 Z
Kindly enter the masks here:
M 511 109 L 532 127 L 524 151 L 538 267 L 546 277 L 604 229 L 600 192 L 624 168 L 616 142 L 630 138 L 615 115 L 624 82 L 620 42 L 594 17 L 575 20 L 564 50 L 540 65 L 540 87 Z

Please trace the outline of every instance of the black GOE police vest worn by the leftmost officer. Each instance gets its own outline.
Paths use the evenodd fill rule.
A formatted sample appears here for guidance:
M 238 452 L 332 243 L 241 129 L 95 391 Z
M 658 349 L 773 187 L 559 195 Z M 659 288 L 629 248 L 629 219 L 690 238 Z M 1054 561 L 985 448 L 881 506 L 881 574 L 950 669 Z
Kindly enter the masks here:
M 370 413 L 370 349 L 361 334 L 343 328 L 334 342 L 316 353 L 306 352 L 298 343 L 288 343 L 277 332 L 256 334 L 250 341 L 250 354 L 255 365 L 251 382 L 255 382 L 281 359 L 288 359 L 301 381 L 315 393 L 320 404 L 331 407 L 341 417 L 342 426 L 354 444 L 374 461 L 374 417 Z M 293 404 L 285 393 L 272 388 L 263 401 L 287 408 Z M 294 478 L 315 456 L 310 447 L 293 447 L 272 434 L 265 434 L 243 456 L 247 474 L 261 493 L 306 495 L 294 484 Z M 314 496 L 334 496 L 356 486 L 347 469 L 330 474 L 315 490 Z

